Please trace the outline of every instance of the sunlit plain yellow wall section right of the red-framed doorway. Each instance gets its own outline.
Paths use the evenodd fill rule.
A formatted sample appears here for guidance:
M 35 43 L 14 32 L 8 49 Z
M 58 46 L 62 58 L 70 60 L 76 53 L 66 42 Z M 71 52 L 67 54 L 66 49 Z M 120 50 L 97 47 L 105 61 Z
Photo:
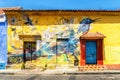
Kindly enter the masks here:
M 101 32 L 104 39 L 104 64 L 120 63 L 120 23 L 93 24 L 91 32 Z

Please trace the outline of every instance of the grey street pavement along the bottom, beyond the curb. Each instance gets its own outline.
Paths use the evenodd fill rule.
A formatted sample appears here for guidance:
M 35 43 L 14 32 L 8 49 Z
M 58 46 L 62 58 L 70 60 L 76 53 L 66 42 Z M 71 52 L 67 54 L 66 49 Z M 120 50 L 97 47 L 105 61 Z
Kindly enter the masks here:
M 120 74 L 0 75 L 0 80 L 120 80 Z

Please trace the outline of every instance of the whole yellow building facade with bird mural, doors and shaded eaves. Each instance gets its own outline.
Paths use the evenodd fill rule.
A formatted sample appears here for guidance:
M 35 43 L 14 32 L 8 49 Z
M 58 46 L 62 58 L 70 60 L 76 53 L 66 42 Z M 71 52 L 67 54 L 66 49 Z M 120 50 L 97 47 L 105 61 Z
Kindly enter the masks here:
M 120 11 L 18 9 L 4 12 L 7 68 L 78 66 L 81 69 L 90 65 L 119 69 Z

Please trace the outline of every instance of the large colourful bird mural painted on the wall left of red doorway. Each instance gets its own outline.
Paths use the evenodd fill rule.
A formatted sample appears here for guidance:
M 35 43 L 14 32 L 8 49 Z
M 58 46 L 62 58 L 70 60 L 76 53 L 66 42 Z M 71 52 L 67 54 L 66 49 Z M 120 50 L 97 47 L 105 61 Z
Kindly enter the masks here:
M 98 19 L 83 18 L 74 24 L 74 18 L 59 17 L 53 25 L 38 25 L 39 20 L 23 14 L 8 20 L 8 64 L 34 66 L 45 64 L 74 64 L 79 61 L 79 37 L 90 30 Z M 25 42 L 19 35 L 41 35 L 41 40 Z M 23 44 L 25 47 L 23 47 Z M 23 50 L 25 50 L 25 58 Z M 25 59 L 25 60 L 24 60 Z

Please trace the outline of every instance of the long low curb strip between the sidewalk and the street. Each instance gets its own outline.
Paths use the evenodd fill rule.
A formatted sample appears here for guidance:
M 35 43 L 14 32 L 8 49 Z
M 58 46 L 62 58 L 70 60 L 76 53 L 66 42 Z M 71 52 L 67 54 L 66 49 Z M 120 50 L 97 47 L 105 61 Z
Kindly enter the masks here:
M 99 74 L 120 74 L 120 70 L 116 71 L 85 71 L 85 72 L 56 72 L 56 71 L 1 71 L 0 75 L 99 75 Z

